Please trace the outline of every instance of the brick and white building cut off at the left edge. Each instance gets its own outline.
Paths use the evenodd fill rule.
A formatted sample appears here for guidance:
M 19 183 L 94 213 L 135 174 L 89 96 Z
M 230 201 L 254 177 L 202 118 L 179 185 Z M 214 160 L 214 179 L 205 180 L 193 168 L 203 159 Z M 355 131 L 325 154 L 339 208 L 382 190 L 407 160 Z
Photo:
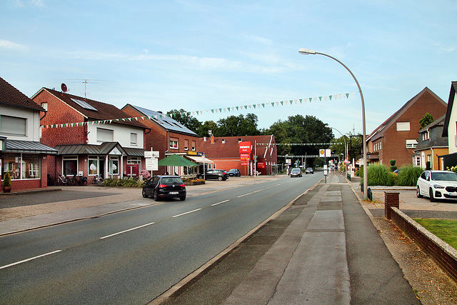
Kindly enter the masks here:
M 46 110 L 0 78 L 0 172 L 12 189 L 46 188 L 49 157 L 56 149 L 40 143 Z

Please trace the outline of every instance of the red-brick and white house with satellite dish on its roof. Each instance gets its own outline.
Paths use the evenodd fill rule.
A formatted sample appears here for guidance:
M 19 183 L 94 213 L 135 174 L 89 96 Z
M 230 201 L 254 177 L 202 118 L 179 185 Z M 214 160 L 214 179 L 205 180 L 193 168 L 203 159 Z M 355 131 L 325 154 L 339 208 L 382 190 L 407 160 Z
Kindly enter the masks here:
M 41 119 L 42 143 L 59 154 L 48 163 L 56 174 L 82 174 L 89 183 L 104 178 L 138 176 L 144 168 L 144 134 L 140 121 L 100 101 L 42 88 L 32 99 L 47 110 Z

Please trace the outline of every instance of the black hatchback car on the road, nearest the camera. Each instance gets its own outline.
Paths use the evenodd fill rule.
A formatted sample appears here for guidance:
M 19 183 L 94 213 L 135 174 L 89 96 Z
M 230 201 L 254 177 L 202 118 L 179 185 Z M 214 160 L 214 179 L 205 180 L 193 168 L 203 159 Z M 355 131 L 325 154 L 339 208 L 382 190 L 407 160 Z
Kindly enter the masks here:
M 179 198 L 186 200 L 186 185 L 179 176 L 153 176 L 146 181 L 141 192 L 144 198 L 153 196 L 155 201 Z

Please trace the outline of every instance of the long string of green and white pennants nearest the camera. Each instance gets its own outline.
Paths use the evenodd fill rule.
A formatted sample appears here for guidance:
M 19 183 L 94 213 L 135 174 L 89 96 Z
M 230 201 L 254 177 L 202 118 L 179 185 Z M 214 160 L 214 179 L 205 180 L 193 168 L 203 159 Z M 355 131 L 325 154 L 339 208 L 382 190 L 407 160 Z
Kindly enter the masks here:
M 300 104 L 302 104 L 302 102 L 307 102 L 309 101 L 311 103 L 311 101 L 322 101 L 322 98 L 324 101 L 327 101 L 327 98 L 331 101 L 332 99 L 333 100 L 336 100 L 336 99 L 341 99 L 341 98 L 345 98 L 346 99 L 349 99 L 349 96 L 354 96 L 355 95 L 355 92 L 351 92 L 351 93 L 346 93 L 346 94 L 332 94 L 332 95 L 328 95 L 328 96 L 315 96 L 315 97 L 307 97 L 307 98 L 304 98 L 304 99 L 285 99 L 283 101 L 272 101 L 271 103 L 262 103 L 262 104 L 250 104 L 250 105 L 243 105 L 243 106 L 230 106 L 230 107 L 226 107 L 226 108 L 216 108 L 216 109 L 206 109 L 204 111 L 206 112 L 209 112 L 211 111 L 211 113 L 222 113 L 222 112 L 227 112 L 227 111 L 235 111 L 235 109 L 237 111 L 241 111 L 243 109 L 260 109 L 261 106 L 262 108 L 265 108 L 266 106 L 268 105 L 271 105 L 272 107 L 274 106 L 287 106 L 288 104 L 290 104 L 291 106 L 293 105 L 296 105 L 298 103 L 298 101 L 300 102 Z M 111 124 L 113 122 L 119 122 L 119 121 L 140 121 L 140 120 L 144 120 L 144 119 L 162 119 L 164 117 L 171 117 L 171 118 L 174 118 L 178 115 L 180 116 L 190 116 L 190 115 L 193 115 L 196 114 L 196 115 L 199 115 L 199 114 L 204 114 L 203 110 L 196 110 L 196 111 L 184 111 L 184 112 L 179 112 L 179 113 L 173 113 L 173 114 L 159 114 L 159 115 L 154 115 L 154 116 L 135 116 L 135 117 L 130 117 L 130 118 L 122 118 L 122 119 L 109 119 L 109 120 L 101 120 L 101 121 L 85 121 L 85 122 L 74 122 L 74 123 L 65 123 L 65 124 L 51 124 L 51 125 L 42 125 L 41 128 L 42 129 L 48 129 L 48 128 L 64 128 L 64 127 L 79 127 L 79 126 L 87 126 L 88 124 L 91 124 L 91 125 L 94 125 L 94 124 Z

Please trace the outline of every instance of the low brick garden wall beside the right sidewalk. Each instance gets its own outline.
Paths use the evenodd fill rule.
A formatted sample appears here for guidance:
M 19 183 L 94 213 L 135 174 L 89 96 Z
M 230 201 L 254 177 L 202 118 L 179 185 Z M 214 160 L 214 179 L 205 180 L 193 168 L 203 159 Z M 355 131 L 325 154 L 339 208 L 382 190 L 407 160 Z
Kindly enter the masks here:
M 391 207 L 391 219 L 398 228 L 421 247 L 426 254 L 445 271 L 454 281 L 457 281 L 457 250 L 438 239 L 430 231 L 411 219 L 395 207 Z

